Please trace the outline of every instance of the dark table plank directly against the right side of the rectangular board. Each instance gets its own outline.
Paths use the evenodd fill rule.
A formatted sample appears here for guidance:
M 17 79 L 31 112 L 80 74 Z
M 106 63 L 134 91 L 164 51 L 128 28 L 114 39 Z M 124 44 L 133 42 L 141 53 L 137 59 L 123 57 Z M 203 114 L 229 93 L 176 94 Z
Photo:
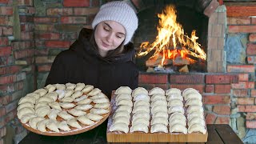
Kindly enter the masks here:
M 208 129 L 208 140 L 207 144 L 223 144 L 222 138 L 219 137 L 217 131 L 215 130 L 215 126 L 213 124 L 207 125 Z

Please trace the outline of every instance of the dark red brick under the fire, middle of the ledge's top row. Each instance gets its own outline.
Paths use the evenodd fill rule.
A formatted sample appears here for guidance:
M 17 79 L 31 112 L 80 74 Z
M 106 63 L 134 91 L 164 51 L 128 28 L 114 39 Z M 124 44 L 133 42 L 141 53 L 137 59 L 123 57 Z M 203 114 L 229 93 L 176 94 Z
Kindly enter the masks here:
M 170 75 L 170 83 L 182 83 L 182 84 L 200 84 L 204 83 L 203 74 L 189 74 L 189 75 Z

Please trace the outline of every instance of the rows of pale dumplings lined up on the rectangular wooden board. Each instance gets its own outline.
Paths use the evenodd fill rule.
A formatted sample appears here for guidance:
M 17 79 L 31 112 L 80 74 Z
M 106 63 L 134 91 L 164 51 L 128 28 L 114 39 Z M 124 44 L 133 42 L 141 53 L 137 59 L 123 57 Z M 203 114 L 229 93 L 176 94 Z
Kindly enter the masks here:
M 161 88 L 155 87 L 154 89 L 150 90 L 150 92 L 148 92 L 145 88 L 142 87 L 138 87 L 132 91 L 128 86 L 121 86 L 118 88 L 118 90 L 115 91 L 115 94 L 117 94 L 115 102 L 116 106 L 118 106 L 118 109 L 115 111 L 114 118 L 120 120 L 114 120 L 113 125 L 110 126 L 110 131 L 122 131 L 125 133 L 129 131 L 128 118 L 130 118 L 130 115 L 128 113 L 124 114 L 124 112 L 119 113 L 119 106 L 129 106 L 129 109 L 126 110 L 133 112 L 130 127 L 131 133 L 134 131 L 142 131 L 148 133 L 148 126 L 150 126 L 150 133 L 168 133 L 167 126 L 169 125 L 170 133 L 181 132 L 187 134 L 187 119 L 184 115 L 185 110 L 183 106 L 183 100 L 186 100 L 185 106 L 187 107 L 189 118 L 194 119 L 193 122 L 190 122 L 190 119 L 188 119 L 189 128 L 191 124 L 198 124 L 198 118 L 194 118 L 194 116 L 190 115 L 192 113 L 194 113 L 193 115 L 198 113 L 197 109 L 194 109 L 194 107 L 201 107 L 202 109 L 202 95 L 199 94 L 197 90 L 192 88 L 188 88 L 182 93 L 181 90 L 176 88 L 171 88 L 165 92 Z M 132 106 L 134 108 L 133 110 L 131 110 Z M 120 118 L 116 117 L 116 113 L 118 113 Z M 150 114 L 152 116 L 151 121 Z M 201 114 L 202 121 L 200 120 L 200 122 L 202 123 L 204 122 L 203 109 Z M 170 115 L 170 117 L 168 115 Z M 126 126 L 123 125 L 123 117 L 126 117 Z M 202 132 L 205 134 L 205 123 L 202 125 L 202 127 L 204 130 L 198 130 L 198 128 L 196 128 L 189 130 L 189 133 Z

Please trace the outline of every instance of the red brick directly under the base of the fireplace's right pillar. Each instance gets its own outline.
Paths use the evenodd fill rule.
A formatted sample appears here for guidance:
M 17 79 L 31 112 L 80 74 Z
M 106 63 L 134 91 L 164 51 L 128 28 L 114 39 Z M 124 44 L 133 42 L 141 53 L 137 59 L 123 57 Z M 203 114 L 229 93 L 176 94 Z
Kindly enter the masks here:
M 210 84 L 229 84 L 238 82 L 238 75 L 234 74 L 220 74 L 220 75 L 206 75 L 206 83 Z

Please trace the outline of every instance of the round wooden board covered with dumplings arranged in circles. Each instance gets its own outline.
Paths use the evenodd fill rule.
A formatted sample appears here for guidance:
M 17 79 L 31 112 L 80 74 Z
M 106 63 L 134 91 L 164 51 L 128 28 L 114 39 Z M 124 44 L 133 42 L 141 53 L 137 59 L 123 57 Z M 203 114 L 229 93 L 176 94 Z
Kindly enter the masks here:
M 37 134 L 80 134 L 102 124 L 110 114 L 110 100 L 102 90 L 84 83 L 47 85 L 18 102 L 22 126 Z

